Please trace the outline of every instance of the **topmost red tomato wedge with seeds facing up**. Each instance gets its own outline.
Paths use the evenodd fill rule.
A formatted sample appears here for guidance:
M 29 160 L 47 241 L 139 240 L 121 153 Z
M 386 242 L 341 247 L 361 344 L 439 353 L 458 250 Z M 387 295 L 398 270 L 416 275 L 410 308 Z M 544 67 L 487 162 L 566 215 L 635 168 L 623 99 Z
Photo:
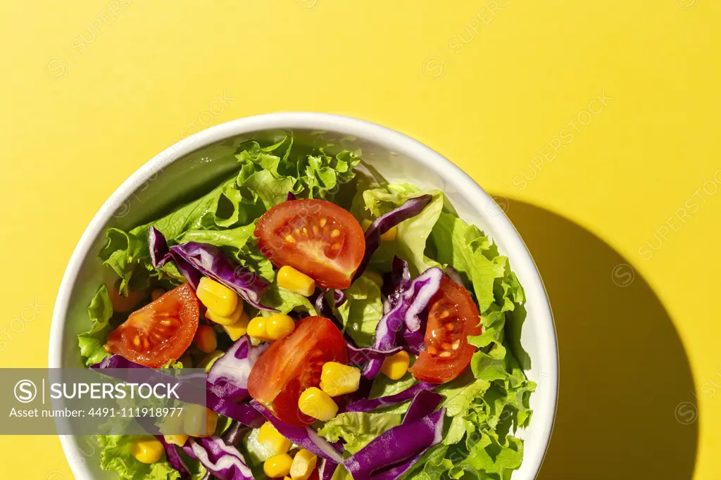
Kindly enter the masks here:
M 290 265 L 321 288 L 348 288 L 366 252 L 358 221 L 326 200 L 275 205 L 258 220 L 255 236 L 273 265 Z

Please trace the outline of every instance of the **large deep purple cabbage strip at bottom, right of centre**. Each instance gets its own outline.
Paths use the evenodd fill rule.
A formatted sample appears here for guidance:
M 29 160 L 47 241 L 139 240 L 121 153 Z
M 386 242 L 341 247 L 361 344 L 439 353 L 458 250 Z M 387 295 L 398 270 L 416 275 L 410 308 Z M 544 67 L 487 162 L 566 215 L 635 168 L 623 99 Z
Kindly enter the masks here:
M 351 455 L 345 468 L 354 479 L 397 479 L 428 448 L 441 443 L 445 414 L 442 408 L 415 422 L 393 427 Z M 389 466 L 394 467 L 384 471 Z

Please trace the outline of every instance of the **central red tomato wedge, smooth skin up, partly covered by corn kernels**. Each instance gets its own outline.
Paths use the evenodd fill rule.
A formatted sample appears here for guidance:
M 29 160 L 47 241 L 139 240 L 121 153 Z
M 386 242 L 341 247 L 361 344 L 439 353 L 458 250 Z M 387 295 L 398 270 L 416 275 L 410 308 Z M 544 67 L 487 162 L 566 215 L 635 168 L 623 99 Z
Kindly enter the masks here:
M 335 324 L 322 316 L 309 316 L 293 333 L 262 352 L 248 378 L 250 396 L 289 425 L 315 422 L 298 409 L 303 391 L 320 385 L 326 362 L 348 363 L 348 347 Z

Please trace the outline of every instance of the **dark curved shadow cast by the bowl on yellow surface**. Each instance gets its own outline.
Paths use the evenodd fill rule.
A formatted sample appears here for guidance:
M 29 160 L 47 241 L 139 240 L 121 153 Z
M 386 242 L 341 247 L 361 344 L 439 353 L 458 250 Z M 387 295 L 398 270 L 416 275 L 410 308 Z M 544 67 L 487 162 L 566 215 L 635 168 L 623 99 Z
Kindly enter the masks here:
M 516 200 L 506 214 L 541 272 L 558 336 L 558 410 L 537 478 L 691 479 L 694 381 L 658 297 L 575 223 Z

